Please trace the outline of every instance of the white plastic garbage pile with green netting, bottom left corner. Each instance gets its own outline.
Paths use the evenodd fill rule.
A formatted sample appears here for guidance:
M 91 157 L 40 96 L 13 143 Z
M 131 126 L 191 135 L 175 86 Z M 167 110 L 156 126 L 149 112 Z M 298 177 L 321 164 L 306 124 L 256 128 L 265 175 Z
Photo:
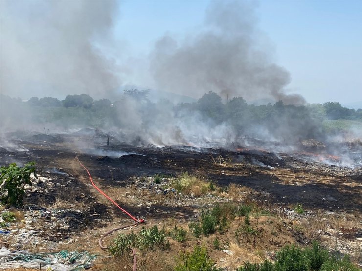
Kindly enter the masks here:
M 68 252 L 62 250 L 58 253 L 28 253 L 11 252 L 5 248 L 0 249 L 0 270 L 15 268 L 34 268 L 51 271 L 78 271 L 91 268 L 96 255 L 87 251 Z

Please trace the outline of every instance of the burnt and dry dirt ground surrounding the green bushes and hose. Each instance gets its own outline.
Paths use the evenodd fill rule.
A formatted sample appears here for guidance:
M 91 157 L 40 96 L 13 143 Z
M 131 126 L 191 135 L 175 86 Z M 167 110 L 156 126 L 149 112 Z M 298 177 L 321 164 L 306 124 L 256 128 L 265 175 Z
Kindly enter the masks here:
M 287 154 L 238 147 L 225 150 L 129 146 L 113 138 L 110 146 L 106 146 L 103 137 L 89 134 L 33 135 L 11 143 L 10 147 L 0 148 L 1 166 L 36 161 L 38 175 L 51 179 L 55 186 L 47 193 L 34 192 L 25 199 L 25 207 L 20 210 L 22 222 L 12 229 L 34 229 L 31 236 L 37 239 L 19 244 L 15 237 L 1 236 L 1 246 L 9 250 L 87 250 L 99 255 L 91 270 L 123 270 L 114 268 L 117 259 L 104 258 L 110 255 L 97 246 L 97 239 L 109 229 L 129 224 L 130 220 L 91 186 L 86 171 L 75 158 L 77 155 L 95 183 L 122 208 L 145 218 L 146 227 L 172 228 L 178 224 L 187 229 L 190 221 L 198 219 L 201 208 L 217 202 L 253 202 L 274 214 L 251 217 L 251 225 L 259 227 L 263 237 L 244 250 L 233 243 L 234 232 L 241 223 L 238 219 L 230 222 L 224 234 L 200 239 L 189 237 L 183 243 L 170 240 L 171 250 L 165 252 L 168 262 L 162 270 L 170 270 L 178 253 L 190 250 L 195 244 L 206 244 L 217 265 L 232 270 L 244 260 L 272 259 L 273 253 L 283 245 L 307 245 L 312 239 L 334 248 L 338 246 L 341 253 L 349 254 L 361 264 L 362 251 L 356 250 L 362 247 L 361 166 L 325 164 L 314 159 L 311 150 Z M 153 182 L 155 175 L 163 176 L 166 184 L 182 172 L 211 180 L 219 191 L 203 196 L 155 192 L 159 189 Z M 297 204 L 302 204 L 303 215 L 293 211 Z M 57 226 L 54 221 L 62 221 L 67 227 Z M 222 241 L 226 252 L 213 249 L 215 238 Z M 233 252 L 228 253 L 229 250 Z M 139 270 L 157 270 L 150 260 L 157 257 L 157 251 L 153 253 L 140 255 L 148 265 L 140 266 Z

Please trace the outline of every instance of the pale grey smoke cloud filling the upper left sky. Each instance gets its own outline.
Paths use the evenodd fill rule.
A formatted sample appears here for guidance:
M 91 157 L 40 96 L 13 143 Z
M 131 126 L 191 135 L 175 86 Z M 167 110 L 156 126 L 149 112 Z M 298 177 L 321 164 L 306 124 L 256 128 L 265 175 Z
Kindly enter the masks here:
M 94 45 L 112 39 L 117 10 L 111 0 L 1 1 L 1 93 L 63 98 L 118 87 L 115 60 Z

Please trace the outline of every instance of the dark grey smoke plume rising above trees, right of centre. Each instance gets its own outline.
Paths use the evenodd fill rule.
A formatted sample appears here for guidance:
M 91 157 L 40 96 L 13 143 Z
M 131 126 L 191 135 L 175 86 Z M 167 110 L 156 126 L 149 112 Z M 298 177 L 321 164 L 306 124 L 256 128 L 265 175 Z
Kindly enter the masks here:
M 252 3 L 212 3 L 205 27 L 207 31 L 183 42 L 169 35 L 158 40 L 151 55 L 151 72 L 159 88 L 195 98 L 213 91 L 224 98 L 305 103 L 300 95 L 284 93 L 290 74 L 259 48 L 261 34 Z

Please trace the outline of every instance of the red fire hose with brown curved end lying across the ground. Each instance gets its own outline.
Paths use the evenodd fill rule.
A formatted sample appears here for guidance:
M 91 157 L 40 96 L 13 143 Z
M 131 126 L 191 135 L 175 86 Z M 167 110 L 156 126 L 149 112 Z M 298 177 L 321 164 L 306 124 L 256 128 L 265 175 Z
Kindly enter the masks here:
M 105 247 L 105 246 L 102 245 L 102 240 L 103 240 L 107 235 L 111 234 L 111 233 L 114 232 L 114 231 L 117 231 L 117 230 L 120 230 L 120 229 L 124 229 L 124 228 L 127 228 L 127 227 L 131 227 L 131 226 L 137 225 L 138 223 L 144 223 L 144 219 L 137 219 L 136 217 L 134 217 L 133 215 L 131 215 L 129 212 L 127 212 L 126 210 L 124 210 L 122 207 L 120 207 L 113 199 L 111 199 L 109 196 L 107 196 L 100 188 L 98 188 L 98 187 L 96 186 L 96 184 L 94 184 L 93 179 L 92 179 L 92 176 L 91 176 L 91 173 L 89 173 L 88 169 L 87 169 L 86 167 L 84 167 L 83 164 L 79 161 L 77 154 L 75 154 L 75 158 L 78 160 L 79 164 L 87 171 L 88 177 L 89 177 L 89 179 L 91 180 L 92 186 L 93 186 L 95 189 L 97 189 L 97 191 L 98 191 L 99 193 L 101 193 L 103 196 L 105 196 L 109 201 L 111 201 L 115 206 L 117 206 L 122 212 L 124 212 L 125 214 L 127 214 L 132 220 L 136 221 L 136 222 L 133 223 L 133 224 L 126 225 L 126 226 L 121 226 L 121 227 L 112 229 L 112 230 L 110 230 L 110 231 L 107 231 L 105 234 L 103 234 L 102 237 L 99 238 L 98 244 L 99 244 L 99 246 L 101 247 L 101 249 L 104 250 L 104 249 L 107 249 L 107 247 Z M 132 250 L 132 253 L 133 253 L 133 271 L 136 271 L 136 269 L 137 269 L 136 250 L 133 249 L 133 248 L 130 248 L 130 249 Z

